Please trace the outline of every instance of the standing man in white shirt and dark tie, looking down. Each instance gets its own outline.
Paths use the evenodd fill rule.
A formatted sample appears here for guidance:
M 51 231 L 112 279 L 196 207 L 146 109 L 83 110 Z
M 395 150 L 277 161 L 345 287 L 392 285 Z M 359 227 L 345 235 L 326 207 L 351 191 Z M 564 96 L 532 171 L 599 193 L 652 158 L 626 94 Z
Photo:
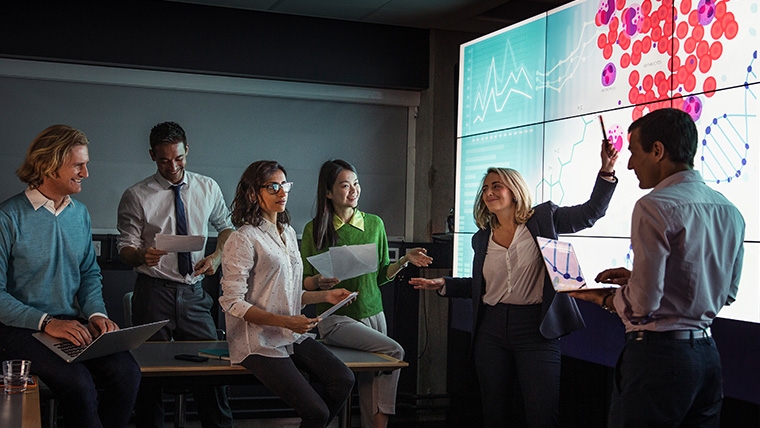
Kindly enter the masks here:
M 163 122 L 150 133 L 150 157 L 158 170 L 124 192 L 118 211 L 121 259 L 137 272 L 132 300 L 134 324 L 169 319 L 151 340 L 216 340 L 213 299 L 204 275 L 219 268 L 224 243 L 233 230 L 229 209 L 212 178 L 185 170 L 185 131 Z M 176 253 L 156 248 L 156 235 L 202 235 L 208 225 L 219 233 L 216 251 Z M 226 388 L 198 387 L 193 396 L 204 428 L 231 427 Z M 141 388 L 135 407 L 137 428 L 163 427 L 161 391 Z

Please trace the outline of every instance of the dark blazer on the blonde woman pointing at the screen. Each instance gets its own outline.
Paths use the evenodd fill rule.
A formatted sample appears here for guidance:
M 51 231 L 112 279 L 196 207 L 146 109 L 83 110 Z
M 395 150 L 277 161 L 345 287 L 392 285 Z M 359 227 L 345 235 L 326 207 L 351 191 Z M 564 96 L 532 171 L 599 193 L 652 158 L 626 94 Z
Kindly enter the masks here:
M 526 227 L 533 235 L 534 240 L 537 236 L 557 239 L 557 234 L 574 233 L 591 227 L 604 216 L 616 186 L 617 181 L 610 183 L 598 177 L 591 197 L 581 205 L 558 207 L 551 201 L 536 205 Z M 444 278 L 446 281 L 446 297 L 472 299 L 473 339 L 482 319 L 483 312 L 481 309 L 485 305 L 483 303 L 483 295 L 485 294 L 483 263 L 486 259 L 490 237 L 490 227 L 479 230 L 472 237 L 472 248 L 475 250 L 472 261 L 472 278 Z M 537 242 L 536 245 L 538 245 Z M 556 339 L 585 326 L 575 300 L 566 294 L 556 293 L 547 274 L 544 277 L 541 325 L 539 327 L 541 334 L 547 339 Z

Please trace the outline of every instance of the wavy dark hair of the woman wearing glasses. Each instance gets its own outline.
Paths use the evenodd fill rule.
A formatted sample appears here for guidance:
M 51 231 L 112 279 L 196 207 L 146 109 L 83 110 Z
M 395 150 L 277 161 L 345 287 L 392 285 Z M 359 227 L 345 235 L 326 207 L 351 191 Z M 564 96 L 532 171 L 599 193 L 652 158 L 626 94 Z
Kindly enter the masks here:
M 240 177 L 240 182 L 235 190 L 235 198 L 232 200 L 232 224 L 235 227 L 241 227 L 248 223 L 253 226 L 261 224 L 262 214 L 261 205 L 259 204 L 259 189 L 266 185 L 269 177 L 277 171 L 282 171 L 287 177 L 285 168 L 276 161 L 257 161 L 246 168 Z M 290 214 L 288 210 L 277 213 L 277 225 L 284 226 L 290 224 Z

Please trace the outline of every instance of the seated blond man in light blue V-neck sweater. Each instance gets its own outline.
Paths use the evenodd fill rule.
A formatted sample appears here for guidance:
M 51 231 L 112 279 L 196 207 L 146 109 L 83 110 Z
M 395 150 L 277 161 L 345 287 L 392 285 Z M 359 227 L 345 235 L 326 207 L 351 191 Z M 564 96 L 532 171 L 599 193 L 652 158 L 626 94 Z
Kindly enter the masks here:
M 140 384 L 129 352 L 69 364 L 32 337 L 82 345 L 119 329 L 106 314 L 90 214 L 70 196 L 89 175 L 87 145 L 67 125 L 42 131 L 16 171 L 27 189 L 0 204 L 0 360 L 31 360 L 67 427 L 126 427 Z

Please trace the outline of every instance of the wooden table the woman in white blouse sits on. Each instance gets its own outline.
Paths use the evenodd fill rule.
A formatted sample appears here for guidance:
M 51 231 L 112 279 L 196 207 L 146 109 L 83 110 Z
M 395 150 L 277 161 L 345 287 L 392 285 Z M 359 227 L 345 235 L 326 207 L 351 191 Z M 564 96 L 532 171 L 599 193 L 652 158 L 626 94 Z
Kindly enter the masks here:
M 155 381 L 159 385 L 184 387 L 198 384 L 245 385 L 260 383 L 246 368 L 230 364 L 226 360 L 209 359 L 204 362 L 192 362 L 174 358 L 177 354 L 196 355 L 200 350 L 226 348 L 226 341 L 146 342 L 133 350 L 132 354 L 140 364 L 143 379 Z M 334 346 L 327 348 L 355 373 L 396 370 L 409 365 L 405 361 L 387 355 Z M 349 396 L 341 414 L 341 428 L 348 427 L 351 423 L 350 409 L 351 397 Z

